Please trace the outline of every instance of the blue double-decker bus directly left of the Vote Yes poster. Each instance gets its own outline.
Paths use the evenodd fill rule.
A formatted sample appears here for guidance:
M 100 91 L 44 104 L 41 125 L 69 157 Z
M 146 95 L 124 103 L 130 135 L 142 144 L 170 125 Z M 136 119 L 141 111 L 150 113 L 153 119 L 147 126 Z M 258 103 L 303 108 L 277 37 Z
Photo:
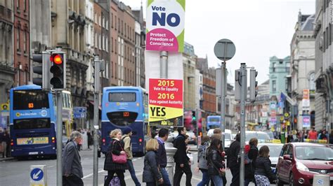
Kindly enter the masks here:
M 102 97 L 102 148 L 107 152 L 110 131 L 132 129 L 132 151 L 145 153 L 145 134 L 148 126 L 148 94 L 141 87 L 105 87 Z

